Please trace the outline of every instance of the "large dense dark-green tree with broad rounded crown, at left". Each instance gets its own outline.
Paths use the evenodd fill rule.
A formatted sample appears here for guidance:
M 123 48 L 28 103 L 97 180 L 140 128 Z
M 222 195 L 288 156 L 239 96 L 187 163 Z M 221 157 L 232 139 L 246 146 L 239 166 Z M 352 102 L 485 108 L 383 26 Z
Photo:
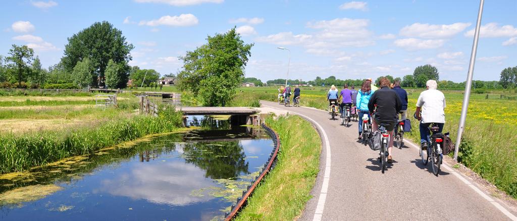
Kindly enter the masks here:
M 88 58 L 94 72 L 91 84 L 98 86 L 97 77 L 104 77 L 108 62 L 113 60 L 116 64 L 124 65 L 118 72 L 118 78 L 120 82 L 123 79 L 127 82 L 127 75 L 131 69 L 127 64 L 132 59 L 130 52 L 133 48 L 122 35 L 122 31 L 107 21 L 96 22 L 68 38 L 65 55 L 61 61 L 65 71 L 70 73 L 77 62 Z M 118 86 L 124 87 L 125 83 Z

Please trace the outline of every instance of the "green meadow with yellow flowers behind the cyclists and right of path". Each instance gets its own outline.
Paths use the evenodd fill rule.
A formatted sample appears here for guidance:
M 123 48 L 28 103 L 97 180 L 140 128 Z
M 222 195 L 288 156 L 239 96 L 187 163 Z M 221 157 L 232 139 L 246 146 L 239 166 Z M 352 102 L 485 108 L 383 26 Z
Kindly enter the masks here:
M 329 88 L 301 87 L 300 104 L 326 109 Z M 439 88 L 438 88 L 439 89 Z M 413 116 L 421 89 L 408 89 L 408 116 Z M 455 141 L 461 114 L 462 91 L 443 91 L 447 107 L 444 132 Z M 497 91 L 491 91 L 497 92 Z M 508 92 L 508 91 L 503 91 Z M 507 94 L 517 96 L 517 94 Z M 277 101 L 276 87 L 242 87 L 235 101 L 242 106 L 253 106 L 257 100 Z M 412 119 L 413 133 L 406 134 L 419 142 L 418 122 Z M 471 94 L 466 128 L 460 148 L 459 161 L 473 169 L 500 190 L 517 198 L 517 101 L 501 100 L 499 94 Z

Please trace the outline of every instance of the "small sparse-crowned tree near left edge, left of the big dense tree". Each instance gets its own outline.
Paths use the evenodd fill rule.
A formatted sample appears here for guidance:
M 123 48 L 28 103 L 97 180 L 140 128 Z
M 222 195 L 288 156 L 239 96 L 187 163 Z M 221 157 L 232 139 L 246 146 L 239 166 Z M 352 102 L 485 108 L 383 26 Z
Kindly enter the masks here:
M 11 62 L 9 68 L 13 70 L 14 76 L 12 78 L 15 82 L 18 82 L 20 87 L 21 83 L 26 82 L 32 74 L 31 65 L 34 61 L 34 50 L 28 48 L 27 45 L 13 44 L 12 49 L 9 50 L 9 55 L 6 60 Z

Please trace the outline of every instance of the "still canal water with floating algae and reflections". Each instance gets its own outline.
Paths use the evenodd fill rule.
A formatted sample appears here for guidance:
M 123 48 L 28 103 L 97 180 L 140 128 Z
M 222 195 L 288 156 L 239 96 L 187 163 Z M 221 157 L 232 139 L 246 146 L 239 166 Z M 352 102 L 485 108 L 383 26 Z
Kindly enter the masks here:
M 0 220 L 220 220 L 273 149 L 257 127 L 197 116 L 153 137 L 0 176 Z

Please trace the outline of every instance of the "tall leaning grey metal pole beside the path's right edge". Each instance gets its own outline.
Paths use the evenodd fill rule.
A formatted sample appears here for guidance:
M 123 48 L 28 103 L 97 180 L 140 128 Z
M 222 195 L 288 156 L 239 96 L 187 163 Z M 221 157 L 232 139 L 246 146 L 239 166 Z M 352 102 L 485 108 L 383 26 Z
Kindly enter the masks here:
M 465 130 L 465 120 L 467 119 L 468 101 L 470 99 L 470 88 L 472 87 L 472 77 L 474 74 L 474 64 L 476 62 L 476 52 L 478 50 L 479 28 L 481 26 L 481 15 L 483 14 L 484 0 L 479 3 L 478 20 L 476 30 L 474 31 L 474 43 L 472 44 L 472 52 L 470 53 L 470 64 L 468 66 L 467 82 L 465 84 L 465 95 L 463 97 L 463 106 L 461 108 L 460 124 L 458 127 L 458 135 L 456 136 L 456 145 L 454 146 L 454 161 L 458 161 L 458 151 L 461 144 L 461 135 Z

